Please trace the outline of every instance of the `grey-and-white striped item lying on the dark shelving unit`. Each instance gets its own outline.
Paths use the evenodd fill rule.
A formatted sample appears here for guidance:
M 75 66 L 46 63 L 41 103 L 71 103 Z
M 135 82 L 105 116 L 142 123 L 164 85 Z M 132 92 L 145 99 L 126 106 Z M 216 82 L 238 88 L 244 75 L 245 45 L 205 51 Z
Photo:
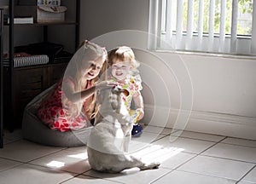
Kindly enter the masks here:
M 26 57 L 15 57 L 14 67 L 43 65 L 49 62 L 48 55 L 32 55 Z M 3 66 L 9 66 L 9 60 L 3 60 Z

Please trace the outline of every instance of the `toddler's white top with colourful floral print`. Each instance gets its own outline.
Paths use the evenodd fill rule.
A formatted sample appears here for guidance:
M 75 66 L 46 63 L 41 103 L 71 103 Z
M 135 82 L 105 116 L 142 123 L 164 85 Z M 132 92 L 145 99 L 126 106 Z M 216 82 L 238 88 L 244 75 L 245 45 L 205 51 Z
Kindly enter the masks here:
M 139 79 L 138 79 L 139 78 Z M 113 76 L 109 77 L 110 81 L 116 82 L 116 78 L 113 78 Z M 123 89 L 127 89 L 129 91 L 129 95 L 125 96 L 123 95 L 123 101 L 125 101 L 125 106 L 128 111 L 131 109 L 131 100 L 135 93 L 143 89 L 142 82 L 140 80 L 140 76 L 133 77 L 129 75 L 125 79 L 125 83 L 120 83 L 120 85 L 123 87 Z

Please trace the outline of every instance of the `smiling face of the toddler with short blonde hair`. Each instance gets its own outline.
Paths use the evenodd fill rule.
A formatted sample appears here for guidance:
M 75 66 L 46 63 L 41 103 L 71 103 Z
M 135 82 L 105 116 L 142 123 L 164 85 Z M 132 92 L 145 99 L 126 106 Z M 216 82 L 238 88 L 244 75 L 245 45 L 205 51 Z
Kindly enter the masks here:
M 124 80 L 131 69 L 129 61 L 113 60 L 113 65 L 111 66 L 111 73 L 114 78 L 119 81 Z

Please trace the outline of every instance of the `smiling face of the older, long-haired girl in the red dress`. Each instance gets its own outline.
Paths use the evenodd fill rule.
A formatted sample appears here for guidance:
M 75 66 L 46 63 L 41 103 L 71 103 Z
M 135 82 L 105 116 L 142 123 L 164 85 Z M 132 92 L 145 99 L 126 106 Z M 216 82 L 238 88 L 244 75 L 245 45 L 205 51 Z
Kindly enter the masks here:
M 96 60 L 87 61 L 84 69 L 82 70 L 82 72 L 84 72 L 84 78 L 86 78 L 87 80 L 96 78 L 101 72 L 104 61 L 105 57 L 103 56 L 98 57 Z

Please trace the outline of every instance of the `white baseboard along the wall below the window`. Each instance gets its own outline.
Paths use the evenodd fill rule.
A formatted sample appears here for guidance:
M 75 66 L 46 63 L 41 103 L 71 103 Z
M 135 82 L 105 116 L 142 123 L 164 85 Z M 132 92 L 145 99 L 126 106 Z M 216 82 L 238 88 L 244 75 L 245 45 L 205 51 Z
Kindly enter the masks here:
M 160 123 L 155 119 L 165 122 Z M 163 106 L 145 106 L 143 121 L 154 126 L 256 140 L 256 117 L 218 112 L 179 111 Z

